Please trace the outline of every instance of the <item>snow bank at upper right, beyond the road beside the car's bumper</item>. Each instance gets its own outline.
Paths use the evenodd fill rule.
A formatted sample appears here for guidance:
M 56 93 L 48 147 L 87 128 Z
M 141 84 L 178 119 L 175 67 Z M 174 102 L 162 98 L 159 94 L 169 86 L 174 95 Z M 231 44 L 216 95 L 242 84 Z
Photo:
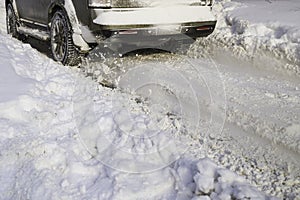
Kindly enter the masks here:
M 275 70 L 299 75 L 299 6 L 297 0 L 219 1 L 214 6 L 214 34 L 199 39 L 192 51 L 205 54 L 225 48 L 241 59 L 280 59 L 285 64 Z

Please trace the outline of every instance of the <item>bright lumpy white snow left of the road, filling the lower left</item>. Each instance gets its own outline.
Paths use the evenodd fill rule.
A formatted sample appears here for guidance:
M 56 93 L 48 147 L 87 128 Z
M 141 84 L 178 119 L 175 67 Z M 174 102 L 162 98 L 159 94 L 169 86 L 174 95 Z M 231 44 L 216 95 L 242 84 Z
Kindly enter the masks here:
M 0 199 L 269 199 L 208 158 L 179 158 L 176 126 L 135 96 L 0 32 Z

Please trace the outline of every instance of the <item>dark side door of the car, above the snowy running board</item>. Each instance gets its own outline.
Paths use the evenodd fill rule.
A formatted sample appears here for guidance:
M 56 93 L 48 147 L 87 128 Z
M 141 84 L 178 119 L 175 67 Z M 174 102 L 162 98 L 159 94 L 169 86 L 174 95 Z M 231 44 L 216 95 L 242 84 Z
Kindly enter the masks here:
M 15 0 L 19 16 L 22 19 L 48 23 L 48 8 L 51 0 Z

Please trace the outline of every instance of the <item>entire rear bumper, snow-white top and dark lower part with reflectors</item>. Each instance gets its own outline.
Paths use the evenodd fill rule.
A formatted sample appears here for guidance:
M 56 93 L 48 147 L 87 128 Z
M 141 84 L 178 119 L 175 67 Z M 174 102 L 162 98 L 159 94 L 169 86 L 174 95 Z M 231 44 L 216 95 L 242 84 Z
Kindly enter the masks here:
M 206 37 L 216 26 L 209 6 L 94 9 L 93 12 L 96 14 L 92 33 L 97 43 L 109 39 L 156 45 L 169 39 Z

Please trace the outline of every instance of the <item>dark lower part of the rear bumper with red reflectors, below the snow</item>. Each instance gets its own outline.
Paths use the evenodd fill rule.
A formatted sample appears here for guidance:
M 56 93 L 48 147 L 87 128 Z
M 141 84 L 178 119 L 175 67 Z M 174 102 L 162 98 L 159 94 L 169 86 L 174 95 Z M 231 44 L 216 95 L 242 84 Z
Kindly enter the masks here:
M 149 25 L 147 28 L 117 27 L 95 34 L 99 35 L 96 38 L 100 38 L 96 43 L 105 42 L 107 44 L 114 43 L 151 48 L 162 45 L 170 40 L 191 42 L 198 37 L 206 37 L 214 31 L 215 26 L 216 21 L 168 26 Z M 105 33 L 106 39 L 102 37 L 103 33 Z

